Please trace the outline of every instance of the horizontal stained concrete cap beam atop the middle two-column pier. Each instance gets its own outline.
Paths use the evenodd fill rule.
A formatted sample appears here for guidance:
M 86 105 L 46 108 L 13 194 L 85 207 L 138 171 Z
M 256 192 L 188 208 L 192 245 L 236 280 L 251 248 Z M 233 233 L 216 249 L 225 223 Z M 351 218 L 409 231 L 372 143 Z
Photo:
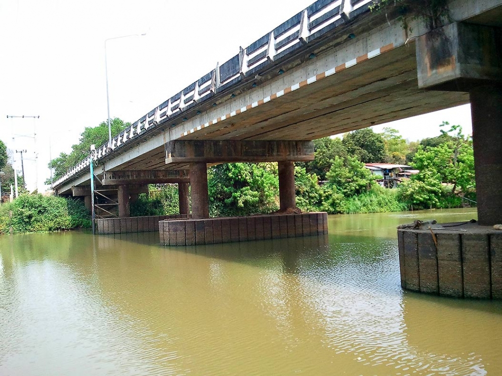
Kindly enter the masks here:
M 175 140 L 166 144 L 166 163 L 309 161 L 312 141 Z

